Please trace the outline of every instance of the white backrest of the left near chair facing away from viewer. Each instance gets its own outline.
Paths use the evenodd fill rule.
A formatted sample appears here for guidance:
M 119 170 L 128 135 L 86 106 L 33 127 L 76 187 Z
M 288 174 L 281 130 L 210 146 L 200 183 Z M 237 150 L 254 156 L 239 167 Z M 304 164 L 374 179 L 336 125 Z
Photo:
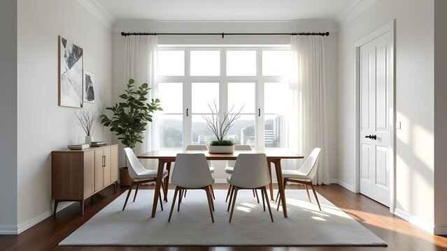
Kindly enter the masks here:
M 203 153 L 178 153 L 171 183 L 183 188 L 202 188 L 214 183 Z

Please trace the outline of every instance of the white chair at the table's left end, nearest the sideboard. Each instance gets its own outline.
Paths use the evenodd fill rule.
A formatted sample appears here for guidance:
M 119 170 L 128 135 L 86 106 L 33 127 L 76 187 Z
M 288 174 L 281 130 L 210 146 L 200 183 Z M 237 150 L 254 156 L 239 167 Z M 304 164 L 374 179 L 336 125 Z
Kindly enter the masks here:
M 132 183 L 130 184 L 129 192 L 127 192 L 127 197 L 124 206 L 122 207 L 122 211 L 125 210 L 127 201 L 129 200 L 130 193 L 132 192 L 132 188 L 134 188 L 134 185 L 136 185 L 135 195 L 134 195 L 134 202 L 136 199 L 136 194 L 138 193 L 139 187 L 141 183 L 148 183 L 148 182 L 156 182 L 157 179 L 157 170 L 148 170 L 141 165 L 141 162 L 136 158 L 136 155 L 132 149 L 129 147 L 125 148 L 125 153 L 127 160 L 129 161 L 129 167 L 127 170 L 129 171 L 129 176 L 132 178 Z M 166 178 L 168 175 L 168 171 L 163 170 L 163 176 L 162 178 Z M 164 190 L 164 185 L 162 181 L 161 188 L 163 190 L 163 193 L 166 195 L 166 190 Z M 162 204 L 162 196 L 159 196 L 160 200 L 160 207 L 163 211 L 163 204 Z

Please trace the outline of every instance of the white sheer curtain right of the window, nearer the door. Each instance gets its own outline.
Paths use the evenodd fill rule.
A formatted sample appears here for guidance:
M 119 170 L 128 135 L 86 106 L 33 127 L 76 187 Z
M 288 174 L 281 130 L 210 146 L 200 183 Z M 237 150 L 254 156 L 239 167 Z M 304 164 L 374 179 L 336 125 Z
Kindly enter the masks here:
M 290 89 L 293 96 L 290 146 L 304 156 L 308 156 L 315 147 L 320 147 L 322 153 L 313 183 L 329 184 L 323 38 L 291 36 L 290 51 Z

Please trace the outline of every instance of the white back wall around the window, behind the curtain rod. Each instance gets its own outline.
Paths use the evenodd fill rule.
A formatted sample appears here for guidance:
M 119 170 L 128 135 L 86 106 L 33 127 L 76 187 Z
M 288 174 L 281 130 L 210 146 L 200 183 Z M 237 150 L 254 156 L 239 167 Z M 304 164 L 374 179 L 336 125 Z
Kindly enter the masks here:
M 332 31 L 331 27 L 295 24 L 290 22 L 144 22 L 123 21 L 115 24 L 114 31 L 146 31 L 146 32 L 171 32 L 171 33 L 290 33 L 297 31 Z M 159 45 L 288 45 L 290 36 L 159 36 Z M 124 48 L 125 38 L 120 32 L 113 33 L 113 102 L 118 102 L 125 87 L 124 77 Z M 326 54 L 326 81 L 327 81 L 327 105 L 328 105 L 328 135 L 329 135 L 329 167 L 330 178 L 337 178 L 337 96 L 336 96 L 336 54 L 337 35 L 331 33 L 325 37 Z M 163 105 L 162 105 L 163 106 Z M 123 158 L 120 164 L 124 165 Z M 214 163 L 213 163 L 214 165 Z M 218 164 L 213 175 L 217 181 L 225 181 L 227 174 L 223 171 L 225 162 Z M 222 168 L 220 168 L 222 167 Z

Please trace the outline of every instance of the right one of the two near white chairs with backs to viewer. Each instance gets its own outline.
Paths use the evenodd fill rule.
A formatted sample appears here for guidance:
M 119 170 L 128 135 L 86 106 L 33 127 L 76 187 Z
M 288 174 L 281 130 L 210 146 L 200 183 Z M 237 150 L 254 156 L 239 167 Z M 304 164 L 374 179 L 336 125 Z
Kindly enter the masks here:
M 229 206 L 232 205 L 232 211 L 229 214 L 229 222 L 232 222 L 234 204 L 239 190 L 259 189 L 262 192 L 262 204 L 265 211 L 265 200 L 269 208 L 271 222 L 274 222 L 271 214 L 269 197 L 267 195 L 266 185 L 270 183 L 269 170 L 267 169 L 267 157 L 264 153 L 240 153 L 237 156 L 232 176 L 227 178 L 229 184 L 232 185 L 232 191 L 229 198 Z M 227 209 L 227 211 L 228 211 Z

